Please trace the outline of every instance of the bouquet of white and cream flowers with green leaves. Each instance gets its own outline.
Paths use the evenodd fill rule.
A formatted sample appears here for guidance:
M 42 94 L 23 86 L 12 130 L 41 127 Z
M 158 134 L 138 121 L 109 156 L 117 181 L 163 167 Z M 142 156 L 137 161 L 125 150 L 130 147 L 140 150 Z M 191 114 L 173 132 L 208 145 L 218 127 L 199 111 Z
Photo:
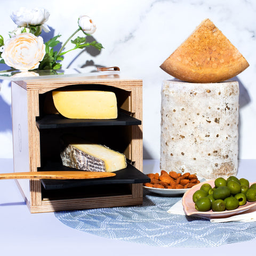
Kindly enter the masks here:
M 50 13 L 45 9 L 20 8 L 13 12 L 11 19 L 18 26 L 17 29 L 9 33 L 9 39 L 4 41 L 0 35 L 0 63 L 5 63 L 11 70 L 52 70 L 60 69 L 63 55 L 85 47 L 93 46 L 101 50 L 103 46 L 96 41 L 86 42 L 85 36 L 90 36 L 96 30 L 96 26 L 90 17 L 82 15 L 78 18 L 78 29 L 63 43 L 60 50 L 54 51 L 53 47 L 61 44 L 58 40 L 61 35 L 54 36 L 48 42 L 43 42 L 40 36 L 42 29 L 49 32 L 49 27 L 45 22 L 49 19 Z M 78 31 L 83 31 L 85 36 L 77 36 L 71 39 Z M 71 41 L 74 47 L 65 50 L 66 44 Z

